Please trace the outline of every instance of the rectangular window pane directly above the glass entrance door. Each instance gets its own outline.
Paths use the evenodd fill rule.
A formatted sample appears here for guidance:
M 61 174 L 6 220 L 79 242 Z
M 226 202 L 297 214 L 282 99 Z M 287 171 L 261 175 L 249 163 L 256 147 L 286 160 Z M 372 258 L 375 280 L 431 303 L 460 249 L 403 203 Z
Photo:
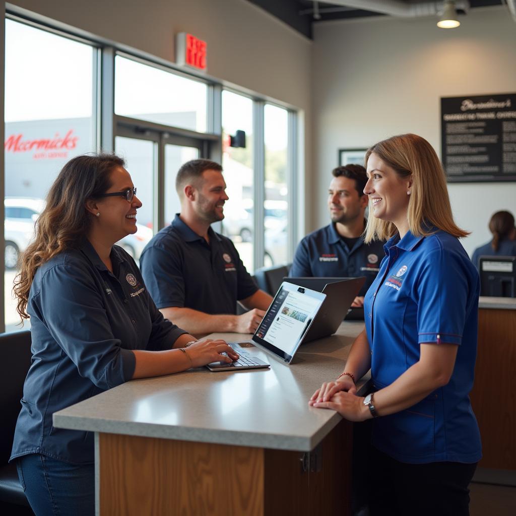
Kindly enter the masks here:
M 208 87 L 198 80 L 115 58 L 117 115 L 204 133 L 207 98 Z

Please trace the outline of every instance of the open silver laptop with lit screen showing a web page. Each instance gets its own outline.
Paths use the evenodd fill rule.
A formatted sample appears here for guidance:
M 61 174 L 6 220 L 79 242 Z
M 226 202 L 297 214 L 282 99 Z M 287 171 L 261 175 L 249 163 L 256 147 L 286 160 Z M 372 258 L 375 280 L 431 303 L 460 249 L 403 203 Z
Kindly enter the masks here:
M 245 361 L 254 362 L 255 365 L 239 365 L 239 359 L 232 364 L 212 362 L 206 367 L 211 371 L 235 371 L 270 365 L 244 351 L 243 347 L 246 345 L 265 349 L 290 364 L 325 299 L 326 294 L 321 292 L 282 282 L 251 341 L 228 343 Z

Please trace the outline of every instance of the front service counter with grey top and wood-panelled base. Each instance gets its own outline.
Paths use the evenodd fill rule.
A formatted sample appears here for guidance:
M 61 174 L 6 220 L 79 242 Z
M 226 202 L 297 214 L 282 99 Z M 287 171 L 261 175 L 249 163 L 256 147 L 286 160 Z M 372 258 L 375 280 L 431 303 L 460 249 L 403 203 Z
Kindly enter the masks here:
M 133 380 L 56 412 L 95 433 L 97 513 L 349 514 L 352 425 L 308 400 L 363 327 L 343 322 L 291 365 L 255 347 L 270 368 Z

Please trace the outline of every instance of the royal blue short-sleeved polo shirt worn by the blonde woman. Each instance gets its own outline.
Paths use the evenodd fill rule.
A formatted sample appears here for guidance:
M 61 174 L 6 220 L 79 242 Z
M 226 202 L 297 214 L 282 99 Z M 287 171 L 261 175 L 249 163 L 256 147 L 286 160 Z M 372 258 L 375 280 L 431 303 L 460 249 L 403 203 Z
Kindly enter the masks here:
M 373 444 L 401 462 L 473 463 L 480 433 L 473 388 L 478 328 L 478 273 L 459 240 L 443 231 L 396 234 L 384 246 L 380 271 L 364 300 L 376 390 L 420 359 L 422 343 L 458 346 L 447 385 L 414 406 L 375 418 Z

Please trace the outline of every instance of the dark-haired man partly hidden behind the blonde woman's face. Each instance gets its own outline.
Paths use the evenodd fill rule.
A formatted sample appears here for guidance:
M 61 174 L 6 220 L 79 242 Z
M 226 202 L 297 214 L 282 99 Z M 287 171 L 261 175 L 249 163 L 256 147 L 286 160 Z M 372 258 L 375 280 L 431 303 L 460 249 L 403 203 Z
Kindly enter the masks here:
M 331 224 L 305 236 L 294 255 L 291 277 L 358 277 L 366 280 L 352 307 L 362 307 L 364 295 L 376 278 L 385 255 L 383 242 L 365 244 L 365 209 L 368 197 L 365 168 L 346 165 L 332 171 L 328 189 Z

